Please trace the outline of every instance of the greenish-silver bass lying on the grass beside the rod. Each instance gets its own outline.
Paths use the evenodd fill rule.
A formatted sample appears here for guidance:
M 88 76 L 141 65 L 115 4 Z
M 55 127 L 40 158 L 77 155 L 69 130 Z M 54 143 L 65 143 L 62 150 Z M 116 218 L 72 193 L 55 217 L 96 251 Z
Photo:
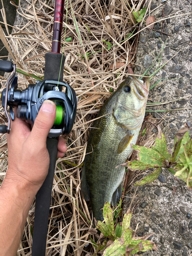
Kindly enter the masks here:
M 82 168 L 81 195 L 91 201 L 93 217 L 103 220 L 105 202 L 115 206 L 122 195 L 125 167 L 145 115 L 149 78 L 128 76 L 100 109 L 90 131 Z

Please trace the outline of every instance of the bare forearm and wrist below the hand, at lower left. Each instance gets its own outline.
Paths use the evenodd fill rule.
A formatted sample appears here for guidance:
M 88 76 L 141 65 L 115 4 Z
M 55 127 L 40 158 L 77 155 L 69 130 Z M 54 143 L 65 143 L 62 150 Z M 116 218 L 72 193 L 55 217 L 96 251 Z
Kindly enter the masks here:
M 1 255 L 15 255 L 24 230 L 35 190 L 27 182 L 9 175 L 0 187 L 0 250 Z

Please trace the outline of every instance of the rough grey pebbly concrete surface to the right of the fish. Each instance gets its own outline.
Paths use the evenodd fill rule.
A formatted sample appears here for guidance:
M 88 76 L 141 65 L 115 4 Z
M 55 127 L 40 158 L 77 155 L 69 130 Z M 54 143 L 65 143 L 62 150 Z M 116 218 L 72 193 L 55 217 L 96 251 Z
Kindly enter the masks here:
M 154 63 L 154 67 L 148 72 L 152 74 L 169 60 L 151 80 L 150 85 L 153 86 L 156 81 L 162 79 L 161 84 L 150 91 L 151 100 L 148 102 L 163 103 L 177 100 L 150 108 L 153 111 L 172 110 L 153 112 L 155 118 L 159 120 L 163 118 L 162 131 L 166 136 L 169 150 L 172 150 L 176 132 L 185 122 L 188 122 L 189 126 L 192 123 L 190 109 L 192 107 L 192 18 L 191 14 L 187 14 L 191 12 L 191 1 L 168 0 L 162 5 L 162 1 L 159 0 L 152 2 L 152 7 L 154 5 L 159 6 L 154 11 L 151 9 L 151 15 L 154 15 L 156 20 L 161 19 L 163 13 L 165 16 L 169 14 L 180 16 L 156 24 L 155 29 L 168 36 L 159 33 L 155 37 L 154 32 L 146 29 L 141 32 L 136 61 L 136 65 L 140 66 L 136 66 L 135 73 L 143 74 L 146 68 Z M 174 55 L 176 56 L 171 59 Z M 157 133 L 157 129 L 154 129 L 154 133 Z M 189 135 L 191 137 L 191 131 Z M 138 205 L 143 203 L 133 214 L 132 226 L 136 228 L 136 224 L 139 223 L 138 236 L 155 232 L 151 239 L 158 247 L 157 252 L 148 251 L 142 255 L 190 255 L 192 192 L 185 182 L 175 178 L 166 169 L 162 169 L 159 179 L 163 182 L 156 180 L 147 186 L 141 186 L 137 191 L 135 203 L 137 202 Z M 132 198 L 134 192 L 135 189 L 127 196 Z M 124 211 L 129 204 L 130 200 L 126 202 Z

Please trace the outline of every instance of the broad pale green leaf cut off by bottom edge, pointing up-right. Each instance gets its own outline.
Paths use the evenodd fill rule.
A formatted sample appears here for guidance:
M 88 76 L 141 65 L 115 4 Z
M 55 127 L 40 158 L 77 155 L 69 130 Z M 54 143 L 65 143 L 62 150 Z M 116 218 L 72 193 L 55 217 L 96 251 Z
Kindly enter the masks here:
M 126 229 L 121 238 L 115 240 L 103 252 L 104 256 L 117 256 L 125 254 L 125 247 L 131 243 L 133 230 Z

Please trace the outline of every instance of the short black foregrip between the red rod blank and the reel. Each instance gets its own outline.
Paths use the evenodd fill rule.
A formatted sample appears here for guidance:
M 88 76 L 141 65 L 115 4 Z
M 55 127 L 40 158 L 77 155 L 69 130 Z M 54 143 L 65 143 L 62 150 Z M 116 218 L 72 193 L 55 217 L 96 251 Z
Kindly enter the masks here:
M 45 75 L 44 80 L 54 79 L 63 81 L 63 69 L 66 57 L 61 53 L 47 52 L 45 54 Z M 60 76 L 59 76 L 60 73 Z

